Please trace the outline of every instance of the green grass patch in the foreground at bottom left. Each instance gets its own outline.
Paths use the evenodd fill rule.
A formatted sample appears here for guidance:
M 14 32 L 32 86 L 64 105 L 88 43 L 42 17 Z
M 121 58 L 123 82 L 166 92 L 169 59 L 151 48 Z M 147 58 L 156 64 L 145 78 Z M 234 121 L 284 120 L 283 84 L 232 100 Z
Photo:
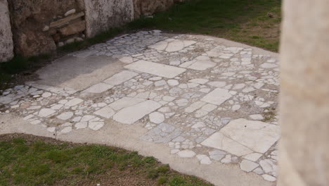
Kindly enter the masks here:
M 135 151 L 29 137 L 0 141 L 0 185 L 96 185 L 117 177 L 146 185 L 209 185 Z

